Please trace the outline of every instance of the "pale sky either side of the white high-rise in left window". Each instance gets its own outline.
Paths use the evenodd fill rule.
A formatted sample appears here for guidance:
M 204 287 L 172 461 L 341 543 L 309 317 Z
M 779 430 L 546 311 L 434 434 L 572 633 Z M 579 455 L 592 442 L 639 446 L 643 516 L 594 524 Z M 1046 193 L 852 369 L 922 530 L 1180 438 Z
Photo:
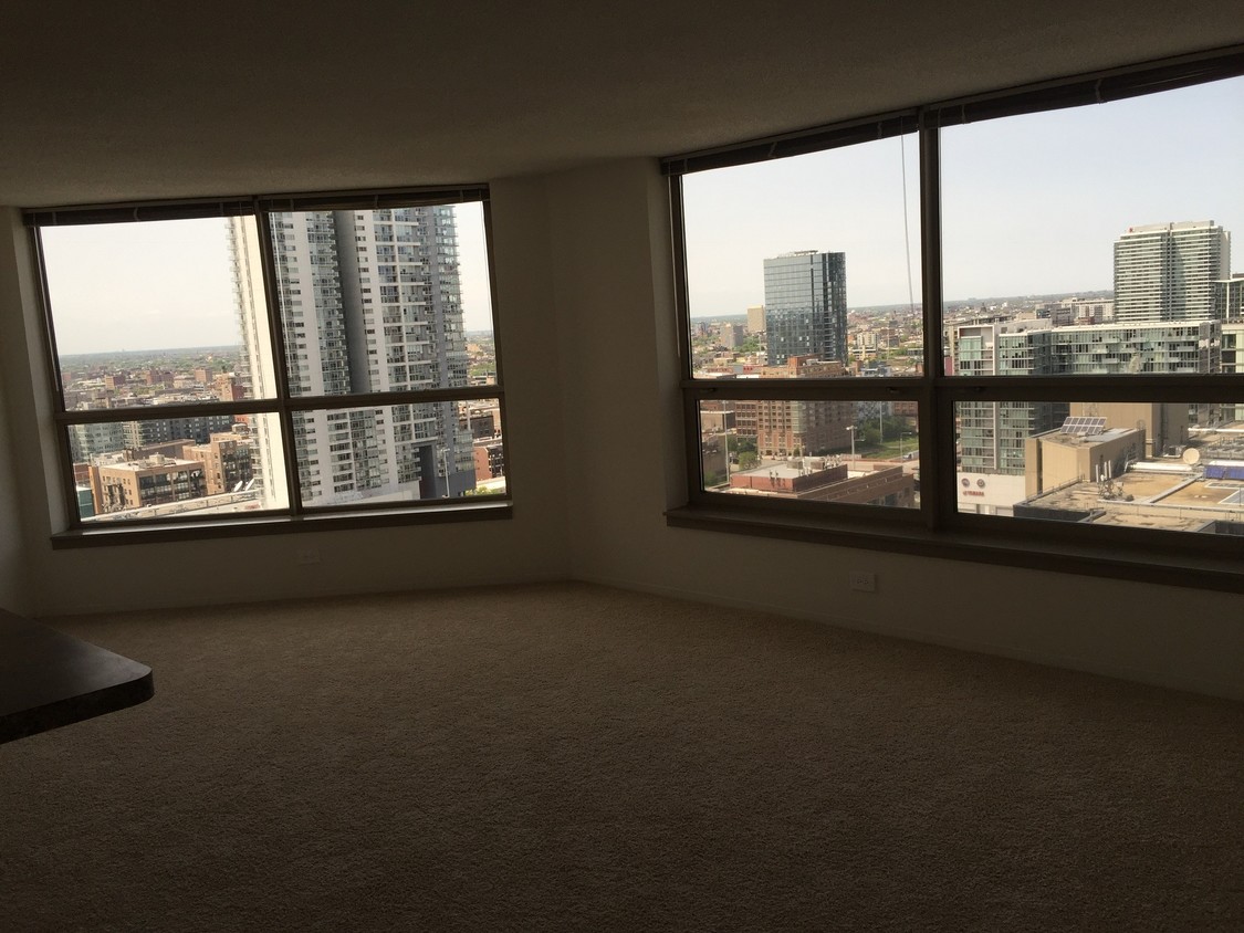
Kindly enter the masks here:
M 455 213 L 465 327 L 491 330 L 484 210 Z M 226 231 L 219 218 L 45 228 L 57 350 L 239 343 Z

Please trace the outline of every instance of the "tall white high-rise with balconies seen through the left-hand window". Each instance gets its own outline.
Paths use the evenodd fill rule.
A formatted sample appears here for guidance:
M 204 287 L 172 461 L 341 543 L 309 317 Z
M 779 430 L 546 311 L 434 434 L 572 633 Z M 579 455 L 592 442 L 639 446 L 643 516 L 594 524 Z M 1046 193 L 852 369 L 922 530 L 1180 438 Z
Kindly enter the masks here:
M 350 396 L 466 386 L 466 342 L 452 207 L 312 210 L 269 215 L 290 392 Z M 258 243 L 231 224 L 245 352 L 239 377 L 272 391 L 270 340 L 250 285 Z M 256 313 L 258 312 L 258 313 Z M 280 491 L 280 444 L 258 419 L 256 479 Z M 309 411 L 294 415 L 307 505 L 434 499 L 475 485 L 470 432 L 454 402 Z

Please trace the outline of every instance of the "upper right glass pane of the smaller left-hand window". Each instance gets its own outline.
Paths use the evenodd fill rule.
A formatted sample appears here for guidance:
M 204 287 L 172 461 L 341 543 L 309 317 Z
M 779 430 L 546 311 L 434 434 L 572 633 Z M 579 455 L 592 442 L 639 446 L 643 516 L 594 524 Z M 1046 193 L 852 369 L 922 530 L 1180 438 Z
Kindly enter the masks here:
M 290 394 L 495 381 L 480 204 L 286 211 L 269 224 Z

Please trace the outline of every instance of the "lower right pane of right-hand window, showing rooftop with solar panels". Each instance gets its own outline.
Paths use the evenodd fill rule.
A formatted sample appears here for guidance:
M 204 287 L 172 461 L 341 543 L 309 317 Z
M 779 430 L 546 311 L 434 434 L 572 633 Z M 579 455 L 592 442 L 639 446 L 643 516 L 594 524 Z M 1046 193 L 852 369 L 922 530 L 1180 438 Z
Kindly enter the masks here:
M 1244 403 L 955 404 L 960 513 L 1244 535 Z

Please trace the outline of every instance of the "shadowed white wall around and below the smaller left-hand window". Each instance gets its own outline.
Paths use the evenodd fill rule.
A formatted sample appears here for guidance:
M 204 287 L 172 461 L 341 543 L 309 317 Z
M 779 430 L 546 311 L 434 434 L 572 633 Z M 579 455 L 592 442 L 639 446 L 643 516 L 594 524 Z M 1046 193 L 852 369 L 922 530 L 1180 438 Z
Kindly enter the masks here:
M 562 443 L 561 391 L 549 291 L 544 185 L 499 182 L 495 274 L 514 518 L 371 531 L 320 531 L 218 541 L 53 551 L 62 514 L 45 384 L 39 302 L 25 231 L 15 210 L 0 224 L 0 605 L 32 615 L 185 606 L 346 592 L 383 592 L 562 578 L 567 573 L 564 474 L 547 452 Z M 9 457 L 20 452 L 16 470 Z M 12 474 L 12 475 L 10 475 Z M 17 503 L 21 503 L 20 531 Z M 297 562 L 316 547 L 317 565 Z M 25 564 L 21 557 L 25 555 Z M 29 580 L 26 592 L 19 582 Z M 6 602 L 7 601 L 7 602 Z

